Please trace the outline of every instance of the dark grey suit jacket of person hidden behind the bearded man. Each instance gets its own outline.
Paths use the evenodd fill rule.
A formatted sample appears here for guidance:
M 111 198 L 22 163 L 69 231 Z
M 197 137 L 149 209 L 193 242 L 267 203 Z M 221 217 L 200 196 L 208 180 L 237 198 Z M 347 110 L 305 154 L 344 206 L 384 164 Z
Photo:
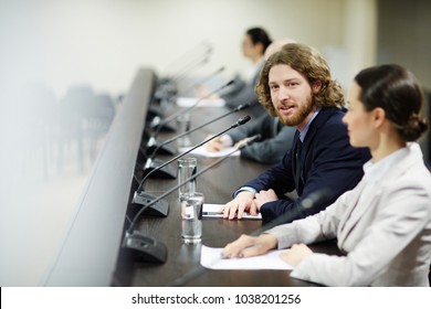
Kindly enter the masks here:
M 265 113 L 230 131 L 229 136 L 235 143 L 246 137 L 261 135 L 260 141 L 241 150 L 241 157 L 264 164 L 274 164 L 291 149 L 295 131 L 294 127 L 284 126 L 278 118 Z

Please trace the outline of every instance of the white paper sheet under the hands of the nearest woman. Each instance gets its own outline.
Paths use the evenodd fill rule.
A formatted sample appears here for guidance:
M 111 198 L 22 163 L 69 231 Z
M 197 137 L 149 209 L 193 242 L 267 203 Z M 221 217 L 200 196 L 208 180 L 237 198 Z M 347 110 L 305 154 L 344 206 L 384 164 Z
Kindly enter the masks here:
M 293 269 L 291 265 L 280 258 L 283 251 L 271 251 L 264 255 L 245 258 L 222 258 L 222 248 L 212 248 L 202 245 L 200 264 L 210 269 Z

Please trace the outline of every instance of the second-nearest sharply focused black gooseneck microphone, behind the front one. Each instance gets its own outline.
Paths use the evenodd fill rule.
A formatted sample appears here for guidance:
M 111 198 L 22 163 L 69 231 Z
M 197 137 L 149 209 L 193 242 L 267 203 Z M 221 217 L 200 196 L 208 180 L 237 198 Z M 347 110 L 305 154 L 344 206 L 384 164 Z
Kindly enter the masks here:
M 161 201 L 159 200 L 159 202 L 157 204 L 153 203 L 154 200 L 156 199 L 154 195 L 151 194 L 148 194 L 146 192 L 144 192 L 144 183 L 145 181 L 153 174 L 155 173 L 156 171 L 162 169 L 164 167 L 168 166 L 169 163 L 178 160 L 179 158 L 186 156 L 187 153 L 193 151 L 195 149 L 197 149 L 198 147 L 201 147 L 202 145 L 209 142 L 210 140 L 225 134 L 227 131 L 233 129 L 233 128 L 236 128 L 239 126 L 242 126 L 244 125 L 245 122 L 248 122 L 249 120 L 251 119 L 251 117 L 248 115 L 248 116 L 244 116 L 243 118 L 240 118 L 235 124 L 233 124 L 232 126 L 230 126 L 229 128 L 222 130 L 221 132 L 218 132 L 217 135 L 214 136 L 211 136 L 210 138 L 207 138 L 206 140 L 199 142 L 198 145 L 191 147 L 190 149 L 188 149 L 187 151 L 185 152 L 181 152 L 180 154 L 171 158 L 170 160 L 166 161 L 165 163 L 162 163 L 161 166 L 159 166 L 158 168 L 151 170 L 149 173 L 147 173 L 143 180 L 139 182 L 139 185 L 138 185 L 138 189 L 135 191 L 135 194 L 134 194 L 134 199 L 133 199 L 133 203 L 134 204 L 139 204 L 139 205 L 144 205 L 144 209 L 148 209 L 148 204 L 151 203 L 151 209 L 148 209 L 149 211 L 149 214 L 151 215 L 156 215 L 156 216 L 167 216 L 168 215 L 168 203 L 166 201 Z

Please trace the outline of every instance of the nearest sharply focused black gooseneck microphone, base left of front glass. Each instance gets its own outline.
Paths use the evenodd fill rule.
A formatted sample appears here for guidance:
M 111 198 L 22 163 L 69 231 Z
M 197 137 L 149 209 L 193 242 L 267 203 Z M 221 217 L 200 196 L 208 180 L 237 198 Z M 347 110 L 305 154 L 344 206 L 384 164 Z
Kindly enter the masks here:
M 153 262 L 153 263 L 165 263 L 167 258 L 167 248 L 166 245 L 156 241 L 153 237 L 146 236 L 141 234 L 139 231 L 135 230 L 135 225 L 139 216 L 145 212 L 146 209 L 156 205 L 159 203 L 162 199 L 168 196 L 174 191 L 178 190 L 178 188 L 185 185 L 186 183 L 193 181 L 197 177 L 201 175 L 202 173 L 207 172 L 209 169 L 212 169 L 214 166 L 219 164 L 227 158 L 229 158 L 231 154 L 233 154 L 236 151 L 240 151 L 244 147 L 248 147 L 259 140 L 261 138 L 260 135 L 253 136 L 248 139 L 246 142 L 239 146 L 236 149 L 232 150 L 231 152 L 224 154 L 223 157 L 219 158 L 214 162 L 212 162 L 210 166 L 206 167 L 204 169 L 198 171 L 190 178 L 181 181 L 174 188 L 166 191 L 164 194 L 157 196 L 155 200 L 149 202 L 148 204 L 144 205 L 134 216 L 132 220 L 132 223 L 129 227 L 126 230 L 125 236 L 123 238 L 122 248 L 126 251 L 132 251 L 137 253 L 141 262 Z

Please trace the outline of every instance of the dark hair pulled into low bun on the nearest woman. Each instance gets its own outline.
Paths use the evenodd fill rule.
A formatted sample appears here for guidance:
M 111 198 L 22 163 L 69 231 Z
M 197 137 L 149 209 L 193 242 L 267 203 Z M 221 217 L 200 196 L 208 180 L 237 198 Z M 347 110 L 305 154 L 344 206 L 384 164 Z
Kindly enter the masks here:
M 417 140 L 428 128 L 420 115 L 424 105 L 421 86 L 414 75 L 397 64 L 372 66 L 355 76 L 366 110 L 380 107 L 406 141 Z

